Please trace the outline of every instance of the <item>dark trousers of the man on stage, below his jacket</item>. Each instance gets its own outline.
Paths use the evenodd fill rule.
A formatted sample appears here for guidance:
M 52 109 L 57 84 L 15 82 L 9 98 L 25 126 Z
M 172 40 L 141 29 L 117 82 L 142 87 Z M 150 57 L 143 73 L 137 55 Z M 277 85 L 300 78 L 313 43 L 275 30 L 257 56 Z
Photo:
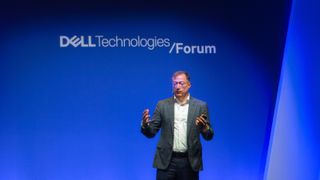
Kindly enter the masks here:
M 199 172 L 193 171 L 187 156 L 174 154 L 167 169 L 157 170 L 157 180 L 199 180 Z

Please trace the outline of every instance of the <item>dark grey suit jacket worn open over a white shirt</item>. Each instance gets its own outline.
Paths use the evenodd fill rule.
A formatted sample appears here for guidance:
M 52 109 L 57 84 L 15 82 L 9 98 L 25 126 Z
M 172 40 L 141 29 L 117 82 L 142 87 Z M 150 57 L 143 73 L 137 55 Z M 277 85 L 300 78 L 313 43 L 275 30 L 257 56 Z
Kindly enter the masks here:
M 173 97 L 159 101 L 149 126 L 141 127 L 141 132 L 149 138 L 154 137 L 161 129 L 153 161 L 153 167 L 158 169 L 166 169 L 169 166 L 173 152 L 174 103 Z M 210 124 L 207 103 L 190 97 L 187 118 L 187 145 L 189 162 L 194 171 L 203 169 L 200 134 L 205 140 L 211 140 L 214 135 L 211 125 L 210 129 L 205 133 L 201 132 L 196 126 L 196 117 L 203 113 L 207 114 L 207 121 Z

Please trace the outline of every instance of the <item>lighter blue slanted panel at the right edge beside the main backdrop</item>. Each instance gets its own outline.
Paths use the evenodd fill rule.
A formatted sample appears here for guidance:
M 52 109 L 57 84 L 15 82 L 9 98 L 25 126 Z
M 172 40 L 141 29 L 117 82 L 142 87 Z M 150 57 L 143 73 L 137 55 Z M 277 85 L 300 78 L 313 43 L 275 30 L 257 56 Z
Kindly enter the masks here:
M 319 8 L 292 4 L 266 179 L 320 179 Z

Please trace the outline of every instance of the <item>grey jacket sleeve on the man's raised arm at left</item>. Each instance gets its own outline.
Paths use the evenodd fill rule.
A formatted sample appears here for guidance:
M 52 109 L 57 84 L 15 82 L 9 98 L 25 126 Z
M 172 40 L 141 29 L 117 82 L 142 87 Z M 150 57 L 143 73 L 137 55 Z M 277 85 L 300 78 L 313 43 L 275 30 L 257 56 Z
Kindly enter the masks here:
M 141 126 L 141 133 L 148 138 L 154 137 L 161 128 L 161 104 L 158 103 L 147 127 Z

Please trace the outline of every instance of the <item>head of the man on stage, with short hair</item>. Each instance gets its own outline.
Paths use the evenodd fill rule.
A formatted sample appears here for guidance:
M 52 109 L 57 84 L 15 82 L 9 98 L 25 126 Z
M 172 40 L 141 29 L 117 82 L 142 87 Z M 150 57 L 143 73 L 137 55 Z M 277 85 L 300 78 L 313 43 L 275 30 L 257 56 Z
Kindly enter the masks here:
M 191 87 L 190 76 L 186 71 L 177 71 L 172 75 L 173 93 L 178 99 L 184 99 L 189 94 Z

